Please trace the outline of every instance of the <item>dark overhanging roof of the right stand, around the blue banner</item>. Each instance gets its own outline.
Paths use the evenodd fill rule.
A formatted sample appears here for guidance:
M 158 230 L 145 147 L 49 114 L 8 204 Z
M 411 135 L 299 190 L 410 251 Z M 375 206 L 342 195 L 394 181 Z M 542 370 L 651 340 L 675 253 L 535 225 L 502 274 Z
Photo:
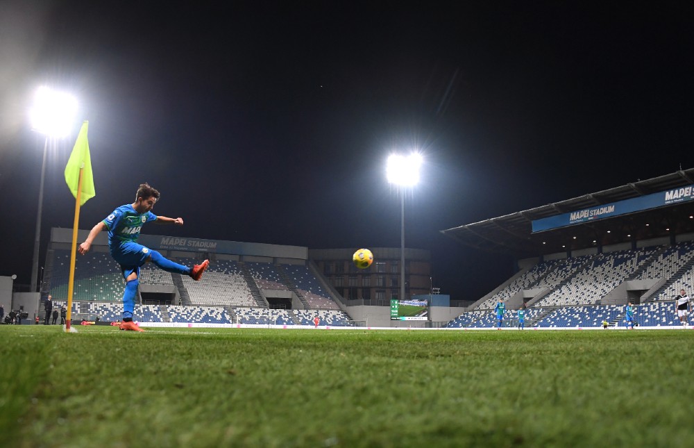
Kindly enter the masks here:
M 684 169 L 654 179 L 627 183 L 609 190 L 454 227 L 441 233 L 475 249 L 513 254 L 518 258 L 692 233 L 694 201 L 536 233 L 532 233 L 532 222 L 693 184 L 694 168 Z

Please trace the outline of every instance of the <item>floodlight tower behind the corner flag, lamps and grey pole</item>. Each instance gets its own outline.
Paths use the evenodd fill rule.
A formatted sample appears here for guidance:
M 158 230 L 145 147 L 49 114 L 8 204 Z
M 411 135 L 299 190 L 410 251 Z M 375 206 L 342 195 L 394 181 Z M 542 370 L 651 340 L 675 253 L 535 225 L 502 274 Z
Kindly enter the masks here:
M 42 86 L 36 90 L 34 103 L 29 112 L 31 128 L 45 136 L 44 157 L 41 165 L 41 182 L 39 184 L 39 206 L 36 215 L 36 232 L 34 235 L 34 256 L 31 266 L 31 290 L 38 291 L 39 245 L 41 238 L 41 212 L 43 206 L 44 179 L 46 176 L 46 153 L 49 140 L 67 137 L 77 113 L 77 100 L 65 92 L 58 92 Z

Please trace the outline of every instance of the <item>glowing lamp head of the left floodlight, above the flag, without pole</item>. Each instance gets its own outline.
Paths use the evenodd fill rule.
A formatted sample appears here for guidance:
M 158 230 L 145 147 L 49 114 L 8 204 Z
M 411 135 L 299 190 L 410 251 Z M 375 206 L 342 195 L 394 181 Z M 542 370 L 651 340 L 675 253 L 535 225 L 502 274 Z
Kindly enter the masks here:
M 62 138 L 71 131 L 77 115 L 77 100 L 71 94 L 42 86 L 29 112 L 31 128 L 46 137 Z

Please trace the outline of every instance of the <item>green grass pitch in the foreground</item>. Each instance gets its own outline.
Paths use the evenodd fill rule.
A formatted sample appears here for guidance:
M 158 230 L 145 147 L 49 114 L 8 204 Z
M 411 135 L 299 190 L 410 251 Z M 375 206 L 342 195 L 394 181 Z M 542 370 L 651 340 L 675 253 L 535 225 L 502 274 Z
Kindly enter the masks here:
M 15 447 L 691 446 L 694 331 L 0 326 Z

